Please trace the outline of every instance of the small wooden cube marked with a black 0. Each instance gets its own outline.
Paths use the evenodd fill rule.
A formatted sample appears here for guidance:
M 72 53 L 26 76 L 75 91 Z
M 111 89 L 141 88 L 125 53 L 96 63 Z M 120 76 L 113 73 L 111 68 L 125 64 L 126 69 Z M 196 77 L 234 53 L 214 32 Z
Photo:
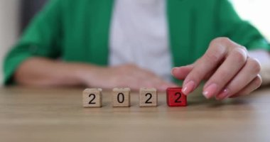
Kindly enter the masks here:
M 112 89 L 112 107 L 130 107 L 130 88 Z

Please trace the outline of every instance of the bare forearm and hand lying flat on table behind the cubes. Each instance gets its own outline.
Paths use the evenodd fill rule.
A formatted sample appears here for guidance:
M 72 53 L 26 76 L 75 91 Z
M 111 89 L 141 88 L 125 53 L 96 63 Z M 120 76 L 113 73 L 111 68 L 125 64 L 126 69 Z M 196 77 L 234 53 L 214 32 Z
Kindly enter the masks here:
M 155 87 L 164 91 L 176 87 L 153 72 L 136 65 L 99 67 L 79 62 L 61 62 L 47 58 L 29 58 L 16 70 L 14 80 L 18 84 L 35 87 L 59 87 L 84 85 L 87 87 Z

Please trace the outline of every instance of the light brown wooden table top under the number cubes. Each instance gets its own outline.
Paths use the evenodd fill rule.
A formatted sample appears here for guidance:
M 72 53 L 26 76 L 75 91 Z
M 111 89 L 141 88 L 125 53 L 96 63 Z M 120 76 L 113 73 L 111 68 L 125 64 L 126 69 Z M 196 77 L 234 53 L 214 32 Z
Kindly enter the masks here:
M 0 141 L 270 141 L 270 89 L 249 97 L 217 102 L 201 90 L 188 107 L 140 108 L 138 92 L 131 107 L 112 108 L 103 92 L 102 108 L 83 108 L 81 88 L 0 89 Z

